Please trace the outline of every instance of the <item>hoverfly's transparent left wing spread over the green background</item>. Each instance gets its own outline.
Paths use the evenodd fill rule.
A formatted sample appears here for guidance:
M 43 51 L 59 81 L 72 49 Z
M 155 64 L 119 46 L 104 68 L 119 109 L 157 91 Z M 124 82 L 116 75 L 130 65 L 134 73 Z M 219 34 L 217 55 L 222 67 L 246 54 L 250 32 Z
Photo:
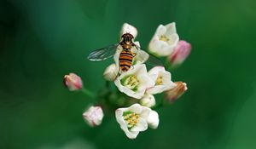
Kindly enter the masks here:
M 119 46 L 119 43 L 110 45 L 108 47 L 102 48 L 102 49 L 96 49 L 95 51 L 92 51 L 87 59 L 88 60 L 106 60 L 115 54 L 117 47 Z

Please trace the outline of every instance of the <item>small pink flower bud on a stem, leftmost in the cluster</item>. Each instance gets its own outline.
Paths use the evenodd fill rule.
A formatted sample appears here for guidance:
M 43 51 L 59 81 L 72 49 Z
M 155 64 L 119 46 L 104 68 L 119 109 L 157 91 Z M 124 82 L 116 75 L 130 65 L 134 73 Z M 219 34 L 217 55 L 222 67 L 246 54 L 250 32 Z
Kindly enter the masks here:
M 70 90 L 79 90 L 83 88 L 83 82 L 81 77 L 75 73 L 69 73 L 64 76 L 64 85 Z

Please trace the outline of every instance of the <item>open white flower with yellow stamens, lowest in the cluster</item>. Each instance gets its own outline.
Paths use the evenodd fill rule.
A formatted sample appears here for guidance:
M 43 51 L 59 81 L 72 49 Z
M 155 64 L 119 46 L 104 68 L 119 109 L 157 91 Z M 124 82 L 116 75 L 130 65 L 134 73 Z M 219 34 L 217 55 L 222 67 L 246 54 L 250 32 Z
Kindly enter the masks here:
M 140 131 L 148 129 L 148 115 L 151 109 L 139 104 L 134 104 L 127 108 L 119 108 L 115 111 L 115 117 L 120 124 L 120 128 L 125 131 L 125 135 L 130 139 L 135 139 Z

